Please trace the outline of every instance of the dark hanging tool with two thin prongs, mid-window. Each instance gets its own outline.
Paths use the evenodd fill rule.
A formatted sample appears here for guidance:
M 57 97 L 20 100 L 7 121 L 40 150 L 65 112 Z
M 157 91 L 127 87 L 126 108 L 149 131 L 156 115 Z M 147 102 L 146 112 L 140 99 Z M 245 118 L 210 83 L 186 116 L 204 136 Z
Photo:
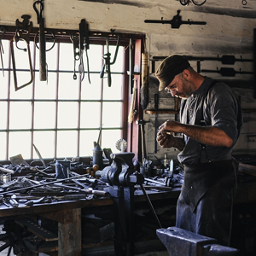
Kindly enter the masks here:
M 81 75 L 81 81 L 84 80 L 84 60 L 83 60 L 83 53 L 85 51 L 86 61 L 87 61 L 87 74 L 88 74 L 88 81 L 90 83 L 90 69 L 89 69 L 89 57 L 87 50 L 90 49 L 89 44 L 89 29 L 88 24 L 85 22 L 84 19 L 81 20 L 79 24 L 79 50 L 80 50 L 80 64 L 79 64 L 79 73 Z

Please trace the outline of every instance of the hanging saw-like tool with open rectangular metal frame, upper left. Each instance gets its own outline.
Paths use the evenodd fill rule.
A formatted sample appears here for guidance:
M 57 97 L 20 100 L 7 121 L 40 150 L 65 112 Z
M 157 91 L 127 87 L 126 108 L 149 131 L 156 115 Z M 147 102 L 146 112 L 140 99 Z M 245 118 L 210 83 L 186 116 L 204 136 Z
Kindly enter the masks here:
M 16 20 L 16 32 L 15 37 L 10 41 L 10 49 L 11 49 L 11 55 L 12 55 L 12 63 L 13 63 L 13 71 L 14 71 L 14 80 L 15 80 L 15 90 L 20 90 L 21 88 L 25 87 L 28 84 L 31 84 L 34 76 L 33 76 L 33 70 L 32 70 L 32 57 L 29 47 L 29 41 L 30 41 L 30 32 L 32 31 L 32 21 L 29 19 L 31 18 L 30 15 L 22 15 L 21 18 L 23 19 L 22 22 L 20 20 Z M 15 50 L 14 50 L 14 42 L 17 49 L 20 49 L 18 47 L 18 42 L 23 40 L 26 42 L 26 49 L 22 49 L 24 51 L 27 51 L 28 54 L 28 61 L 29 61 L 29 67 L 30 67 L 30 81 L 26 84 L 22 84 L 18 86 L 17 83 L 17 75 L 16 75 L 16 64 L 15 64 Z

